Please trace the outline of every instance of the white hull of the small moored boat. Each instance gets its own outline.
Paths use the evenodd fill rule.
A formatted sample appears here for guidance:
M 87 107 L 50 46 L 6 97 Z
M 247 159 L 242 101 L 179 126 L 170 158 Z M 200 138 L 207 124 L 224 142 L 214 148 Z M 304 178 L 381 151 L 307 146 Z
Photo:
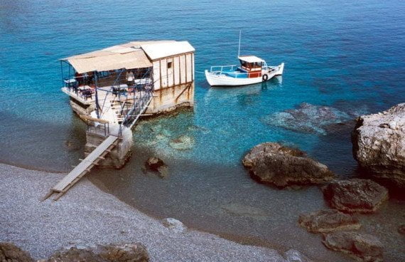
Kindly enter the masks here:
M 284 71 L 284 63 L 275 67 L 276 70 L 271 73 L 266 73 L 267 80 L 274 78 L 276 75 L 282 75 Z M 215 74 L 205 70 L 205 78 L 211 86 L 237 86 L 237 85 L 252 85 L 265 82 L 263 76 L 258 78 L 232 78 L 225 74 Z

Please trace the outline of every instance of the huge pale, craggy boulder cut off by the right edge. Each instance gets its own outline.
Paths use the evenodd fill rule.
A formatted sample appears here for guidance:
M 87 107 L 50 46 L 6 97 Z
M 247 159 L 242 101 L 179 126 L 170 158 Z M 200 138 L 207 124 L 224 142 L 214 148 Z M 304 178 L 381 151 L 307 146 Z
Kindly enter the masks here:
M 352 143 L 353 155 L 363 169 L 405 188 L 405 103 L 359 117 Z

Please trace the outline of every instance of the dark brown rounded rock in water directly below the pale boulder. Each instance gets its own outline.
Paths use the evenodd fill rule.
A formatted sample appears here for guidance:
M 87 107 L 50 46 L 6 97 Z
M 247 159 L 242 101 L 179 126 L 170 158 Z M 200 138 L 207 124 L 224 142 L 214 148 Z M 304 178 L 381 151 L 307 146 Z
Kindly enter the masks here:
M 330 206 L 349 213 L 374 212 L 388 199 L 387 189 L 369 179 L 333 181 L 322 191 Z

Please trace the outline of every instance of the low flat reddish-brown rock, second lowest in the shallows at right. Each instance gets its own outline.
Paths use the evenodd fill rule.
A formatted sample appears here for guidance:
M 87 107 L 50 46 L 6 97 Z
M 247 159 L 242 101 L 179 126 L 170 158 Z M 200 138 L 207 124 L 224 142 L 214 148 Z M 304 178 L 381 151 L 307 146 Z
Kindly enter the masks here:
M 329 233 L 340 230 L 360 229 L 359 220 L 350 214 L 344 214 L 336 209 L 326 209 L 302 214 L 298 224 L 313 233 Z

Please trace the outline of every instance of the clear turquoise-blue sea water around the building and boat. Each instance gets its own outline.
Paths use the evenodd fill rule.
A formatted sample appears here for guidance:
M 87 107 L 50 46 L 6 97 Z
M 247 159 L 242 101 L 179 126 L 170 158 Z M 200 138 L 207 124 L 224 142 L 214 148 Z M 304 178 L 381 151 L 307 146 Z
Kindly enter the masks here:
M 200 72 L 237 63 L 239 30 L 241 53 L 286 63 L 284 75 L 210 88 Z M 139 122 L 130 162 L 95 170 L 92 181 L 147 214 L 193 229 L 296 248 L 317 261 L 350 261 L 296 222 L 326 207 L 318 187 L 259 184 L 241 159 L 261 142 L 283 142 L 339 178 L 358 176 L 353 120 L 405 102 L 405 1 L 0 0 L 0 161 L 68 172 L 82 157 L 85 124 L 60 91 L 58 60 L 153 39 L 195 47 L 195 108 Z M 183 150 L 173 148 L 180 136 L 190 141 Z M 166 179 L 144 174 L 149 156 L 168 164 Z M 384 243 L 386 261 L 405 261 L 405 240 L 396 232 L 404 204 L 390 199 L 377 214 L 357 215 L 360 231 Z

